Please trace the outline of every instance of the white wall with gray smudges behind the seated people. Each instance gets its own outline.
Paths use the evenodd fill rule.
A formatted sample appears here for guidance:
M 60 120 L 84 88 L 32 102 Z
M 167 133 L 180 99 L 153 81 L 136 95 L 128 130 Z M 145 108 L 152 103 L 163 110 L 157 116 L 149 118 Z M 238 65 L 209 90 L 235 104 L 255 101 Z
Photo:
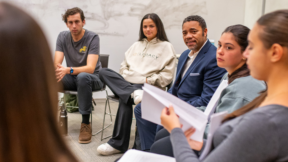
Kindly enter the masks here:
M 1 1 L 1 0 L 0 0 Z M 208 38 L 217 44 L 222 31 L 230 25 L 244 24 L 242 0 L 9 0 L 24 8 L 40 24 L 54 56 L 59 32 L 68 30 L 61 20 L 66 9 L 79 7 L 86 16 L 84 28 L 100 36 L 100 53 L 109 54 L 108 67 L 118 71 L 125 51 L 138 39 L 140 21 L 147 13 L 156 13 L 163 21 L 168 39 L 177 54 L 187 49 L 182 39 L 182 21 L 190 15 L 202 16 Z M 256 5 L 256 4 L 255 4 Z M 33 32 L 33 31 L 31 31 Z M 65 65 L 65 63 L 63 63 Z M 112 92 L 109 92 L 112 94 Z M 97 92 L 93 97 L 105 98 Z

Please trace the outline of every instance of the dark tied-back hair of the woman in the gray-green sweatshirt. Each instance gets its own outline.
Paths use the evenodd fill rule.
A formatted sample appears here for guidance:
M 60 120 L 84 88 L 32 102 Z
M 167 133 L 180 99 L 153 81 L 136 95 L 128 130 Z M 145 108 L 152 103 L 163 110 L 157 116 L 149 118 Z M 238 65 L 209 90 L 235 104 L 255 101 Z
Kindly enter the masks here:
M 247 36 L 250 29 L 243 25 L 232 25 L 228 26 L 223 33 L 232 33 L 235 37 L 235 41 L 240 45 L 241 52 L 243 53 L 248 46 Z M 222 33 L 222 34 L 223 34 Z M 250 70 L 247 68 L 246 63 L 242 65 L 239 69 L 235 70 L 231 73 L 231 75 L 228 75 L 228 84 L 230 84 L 233 80 L 240 78 L 240 77 L 246 77 L 250 75 Z

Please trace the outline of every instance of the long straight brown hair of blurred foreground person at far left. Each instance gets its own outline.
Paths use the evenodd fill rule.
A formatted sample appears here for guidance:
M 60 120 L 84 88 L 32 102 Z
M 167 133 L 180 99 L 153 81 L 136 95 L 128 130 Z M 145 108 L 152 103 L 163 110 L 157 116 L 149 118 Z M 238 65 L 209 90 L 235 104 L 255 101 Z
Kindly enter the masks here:
M 51 52 L 37 23 L 0 3 L 0 161 L 77 161 L 57 126 Z

